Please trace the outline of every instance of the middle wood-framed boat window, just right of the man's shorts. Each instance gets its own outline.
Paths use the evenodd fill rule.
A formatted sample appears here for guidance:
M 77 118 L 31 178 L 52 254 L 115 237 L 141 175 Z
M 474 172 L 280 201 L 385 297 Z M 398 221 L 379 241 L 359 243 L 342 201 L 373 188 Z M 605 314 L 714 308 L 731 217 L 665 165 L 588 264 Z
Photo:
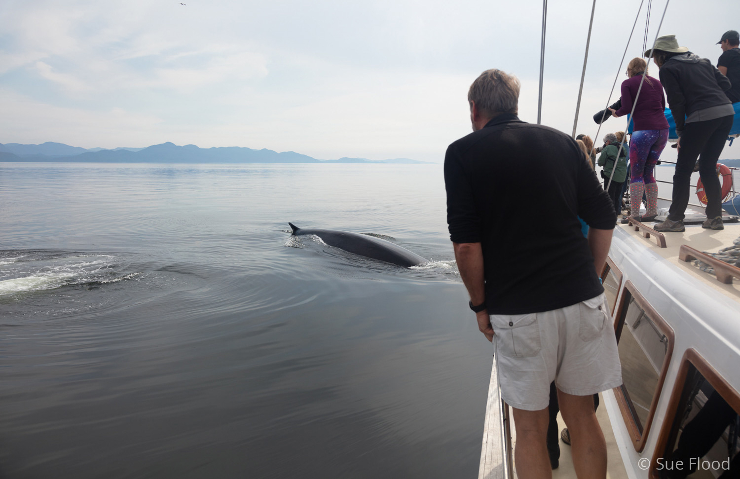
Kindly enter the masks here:
M 673 329 L 628 281 L 616 324 L 622 381 L 615 389 L 633 444 L 642 451 L 673 352 Z

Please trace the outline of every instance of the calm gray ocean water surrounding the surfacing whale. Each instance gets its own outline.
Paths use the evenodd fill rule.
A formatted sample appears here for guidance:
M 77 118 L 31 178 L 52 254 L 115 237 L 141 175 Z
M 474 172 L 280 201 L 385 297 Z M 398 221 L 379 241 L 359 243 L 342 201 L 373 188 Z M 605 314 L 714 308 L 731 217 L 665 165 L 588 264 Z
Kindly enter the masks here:
M 453 259 L 441 165 L 0 164 L 0 478 L 475 477 Z

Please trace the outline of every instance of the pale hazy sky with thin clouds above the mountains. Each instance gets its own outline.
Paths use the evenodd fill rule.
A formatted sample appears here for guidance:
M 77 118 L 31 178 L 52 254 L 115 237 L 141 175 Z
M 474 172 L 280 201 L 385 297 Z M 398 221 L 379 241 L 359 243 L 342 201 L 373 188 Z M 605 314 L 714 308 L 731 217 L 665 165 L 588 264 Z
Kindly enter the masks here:
M 440 162 L 470 132 L 468 86 L 491 67 L 519 77 L 519 116 L 536 121 L 539 0 L 184 3 L 0 2 L 0 143 Z M 641 56 L 647 0 L 619 67 L 639 4 L 597 1 L 579 133 L 596 134 L 591 115 Z M 653 1 L 648 43 L 664 7 Z M 590 15 L 590 0 L 548 5 L 542 123 L 568 134 Z M 672 0 L 661 33 L 716 63 L 730 29 L 740 1 Z

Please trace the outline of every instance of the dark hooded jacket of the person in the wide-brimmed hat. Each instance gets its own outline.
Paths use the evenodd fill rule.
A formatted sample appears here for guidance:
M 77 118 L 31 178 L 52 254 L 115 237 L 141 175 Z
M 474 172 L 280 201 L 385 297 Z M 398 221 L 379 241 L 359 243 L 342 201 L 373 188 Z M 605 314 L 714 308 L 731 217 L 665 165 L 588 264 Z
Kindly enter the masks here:
M 676 134 L 683 133 L 686 116 L 697 110 L 730 103 L 724 94 L 732 84 L 707 60 L 691 52 L 672 56 L 660 67 Z

